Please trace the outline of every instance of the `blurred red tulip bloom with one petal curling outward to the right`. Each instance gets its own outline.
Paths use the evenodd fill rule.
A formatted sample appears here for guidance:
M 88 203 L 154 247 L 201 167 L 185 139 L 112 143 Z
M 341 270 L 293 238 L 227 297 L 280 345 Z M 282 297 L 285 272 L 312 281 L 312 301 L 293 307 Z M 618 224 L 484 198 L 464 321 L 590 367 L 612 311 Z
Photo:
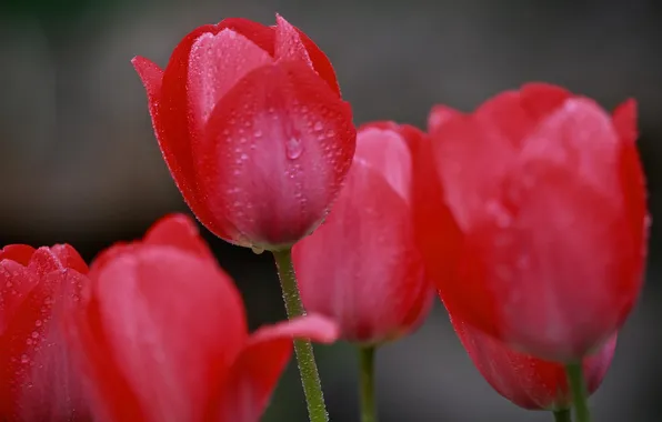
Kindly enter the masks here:
M 110 248 L 90 280 L 69 326 L 99 420 L 255 422 L 292 336 L 337 336 L 314 315 L 249 335 L 232 280 L 183 215 Z

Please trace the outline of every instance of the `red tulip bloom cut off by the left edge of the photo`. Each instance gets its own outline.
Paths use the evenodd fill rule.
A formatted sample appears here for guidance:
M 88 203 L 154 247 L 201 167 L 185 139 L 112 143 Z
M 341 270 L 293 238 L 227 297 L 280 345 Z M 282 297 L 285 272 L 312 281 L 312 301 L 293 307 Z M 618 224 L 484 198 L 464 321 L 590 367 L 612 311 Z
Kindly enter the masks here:
M 0 250 L 0 420 L 90 420 L 61 330 L 87 272 L 68 244 Z

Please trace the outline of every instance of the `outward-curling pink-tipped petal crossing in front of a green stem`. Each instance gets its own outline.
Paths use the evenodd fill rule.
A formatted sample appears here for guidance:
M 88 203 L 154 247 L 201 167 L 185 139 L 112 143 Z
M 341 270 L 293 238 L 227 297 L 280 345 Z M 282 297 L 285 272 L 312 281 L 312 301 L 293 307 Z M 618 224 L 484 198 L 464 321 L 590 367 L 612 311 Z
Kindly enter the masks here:
M 209 420 L 258 422 L 290 361 L 292 339 L 332 343 L 338 339 L 338 326 L 310 314 L 258 330 L 232 365 L 220 399 L 213 401 L 218 406 L 210 411 L 218 416 Z

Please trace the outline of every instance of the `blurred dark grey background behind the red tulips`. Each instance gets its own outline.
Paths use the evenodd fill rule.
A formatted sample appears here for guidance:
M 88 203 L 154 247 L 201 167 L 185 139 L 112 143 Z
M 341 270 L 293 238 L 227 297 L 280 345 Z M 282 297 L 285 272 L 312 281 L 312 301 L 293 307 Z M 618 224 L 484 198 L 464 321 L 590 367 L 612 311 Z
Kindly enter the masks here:
M 0 244 L 72 243 L 86 259 L 187 211 L 161 159 L 130 60 L 165 66 L 191 29 L 227 17 L 305 31 L 335 67 L 355 122 L 421 128 L 434 103 L 462 110 L 525 81 L 549 81 L 609 109 L 634 97 L 653 235 L 644 294 L 623 329 L 595 421 L 662 419 L 662 3 L 571 0 L 2 0 Z M 284 318 L 269 254 L 211 235 L 258 325 Z M 358 421 L 357 356 L 318 348 L 333 421 Z M 438 307 L 378 354 L 382 422 L 551 421 L 483 381 Z M 305 421 L 291 364 L 264 421 Z

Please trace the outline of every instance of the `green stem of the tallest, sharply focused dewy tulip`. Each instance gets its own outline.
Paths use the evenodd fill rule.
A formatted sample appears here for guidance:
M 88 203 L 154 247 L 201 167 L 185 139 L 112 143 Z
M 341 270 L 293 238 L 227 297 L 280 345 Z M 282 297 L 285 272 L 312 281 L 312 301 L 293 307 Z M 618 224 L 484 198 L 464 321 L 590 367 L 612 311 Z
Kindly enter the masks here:
M 273 258 L 278 267 L 288 318 L 291 320 L 305 315 L 305 309 L 303 309 L 299 285 L 297 284 L 294 265 L 292 264 L 292 250 L 273 251 Z M 299 374 L 301 375 L 310 422 L 328 422 L 329 414 L 324 404 L 324 394 L 322 393 L 312 343 L 309 340 L 294 340 L 294 353 L 299 363 Z

